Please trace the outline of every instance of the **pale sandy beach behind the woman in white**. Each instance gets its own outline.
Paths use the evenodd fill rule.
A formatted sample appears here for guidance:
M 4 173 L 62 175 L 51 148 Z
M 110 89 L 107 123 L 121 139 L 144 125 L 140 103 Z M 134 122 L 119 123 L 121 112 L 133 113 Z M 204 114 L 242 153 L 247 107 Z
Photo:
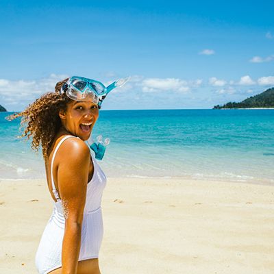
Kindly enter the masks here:
M 37 273 L 45 180 L 0 182 L 0 273 Z M 274 186 L 109 178 L 99 262 L 112 273 L 274 273 Z

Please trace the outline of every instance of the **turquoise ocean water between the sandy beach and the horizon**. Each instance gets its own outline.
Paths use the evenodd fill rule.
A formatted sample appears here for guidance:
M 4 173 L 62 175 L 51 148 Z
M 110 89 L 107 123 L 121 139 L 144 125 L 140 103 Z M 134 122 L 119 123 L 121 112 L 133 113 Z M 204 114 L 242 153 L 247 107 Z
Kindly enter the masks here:
M 42 153 L 0 113 L 0 179 L 45 178 Z M 108 177 L 182 177 L 274 184 L 274 110 L 101 110 Z

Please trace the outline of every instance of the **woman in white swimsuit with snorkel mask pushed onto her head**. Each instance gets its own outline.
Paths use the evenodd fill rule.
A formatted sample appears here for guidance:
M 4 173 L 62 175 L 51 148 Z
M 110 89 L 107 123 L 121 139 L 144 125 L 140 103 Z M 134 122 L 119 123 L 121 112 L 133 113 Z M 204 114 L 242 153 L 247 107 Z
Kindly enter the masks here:
M 106 177 L 88 140 L 105 96 L 125 81 L 103 84 L 83 77 L 58 82 L 55 92 L 42 95 L 11 119 L 23 117 L 23 136 L 32 148 L 42 146 L 47 183 L 54 210 L 36 253 L 40 274 L 99 274 L 103 238 L 101 196 Z

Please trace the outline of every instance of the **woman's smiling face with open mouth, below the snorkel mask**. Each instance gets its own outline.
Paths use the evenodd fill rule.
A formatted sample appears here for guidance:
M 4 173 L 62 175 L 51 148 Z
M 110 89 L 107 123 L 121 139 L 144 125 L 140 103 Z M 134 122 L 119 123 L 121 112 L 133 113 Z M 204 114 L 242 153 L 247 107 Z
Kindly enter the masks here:
M 88 140 L 99 116 L 97 104 L 92 101 L 71 101 L 59 116 L 65 129 L 82 140 Z

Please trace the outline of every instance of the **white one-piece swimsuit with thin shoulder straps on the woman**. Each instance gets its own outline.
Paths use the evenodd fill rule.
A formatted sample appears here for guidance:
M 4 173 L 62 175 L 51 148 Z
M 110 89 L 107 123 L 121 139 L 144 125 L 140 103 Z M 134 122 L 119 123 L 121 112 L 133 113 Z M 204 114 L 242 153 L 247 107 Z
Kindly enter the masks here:
M 53 182 L 53 161 L 56 151 L 67 138 L 75 136 L 66 135 L 58 143 L 51 160 L 51 184 L 56 198 L 51 217 L 42 234 L 38 250 L 36 252 L 36 268 L 38 273 L 47 274 L 62 266 L 62 242 L 64 236 L 64 214 L 62 202 Z M 91 156 L 92 158 L 92 156 Z M 101 197 L 106 184 L 106 177 L 97 161 L 92 158 L 94 171 L 92 179 L 88 182 L 86 190 L 86 204 L 82 222 L 81 249 L 79 261 L 98 258 L 101 241 L 103 238 L 103 219 L 101 212 Z

